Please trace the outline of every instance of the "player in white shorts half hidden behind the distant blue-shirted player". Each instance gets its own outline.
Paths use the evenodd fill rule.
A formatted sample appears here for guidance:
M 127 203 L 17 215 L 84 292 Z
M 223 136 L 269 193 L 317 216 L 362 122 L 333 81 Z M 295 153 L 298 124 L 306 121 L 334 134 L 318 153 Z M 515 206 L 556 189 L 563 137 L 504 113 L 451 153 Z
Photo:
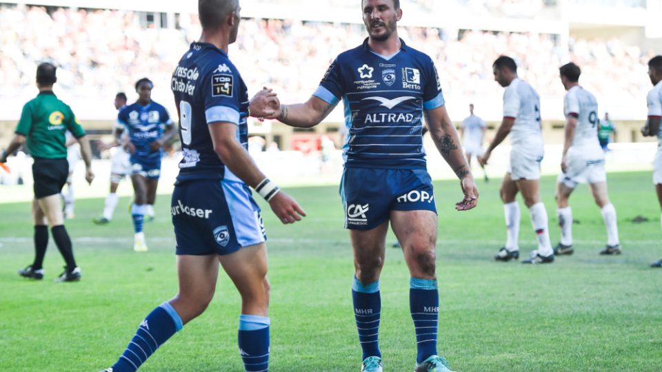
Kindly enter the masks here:
M 121 110 L 122 107 L 126 106 L 126 94 L 119 92 L 115 96 L 114 105 L 117 110 Z M 124 127 L 116 123 L 112 128 L 112 137 L 117 138 L 117 131 L 124 130 Z M 126 138 L 126 133 L 123 138 Z M 128 138 L 125 139 L 128 141 Z M 103 214 L 101 217 L 94 218 L 92 221 L 97 225 L 107 225 L 112 220 L 112 214 L 117 207 L 117 187 L 119 182 L 124 179 L 124 177 L 131 176 L 131 155 L 124 149 L 122 143 L 118 141 L 113 141 L 110 144 L 99 142 L 99 149 L 109 149 L 110 150 L 110 193 L 106 196 L 106 202 L 103 205 Z

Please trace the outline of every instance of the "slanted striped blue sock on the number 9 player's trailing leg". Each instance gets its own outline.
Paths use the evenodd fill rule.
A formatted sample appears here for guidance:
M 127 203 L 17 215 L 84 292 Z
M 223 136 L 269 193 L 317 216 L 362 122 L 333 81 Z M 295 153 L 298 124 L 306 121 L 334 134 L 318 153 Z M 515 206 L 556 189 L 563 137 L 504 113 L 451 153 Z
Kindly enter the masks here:
M 163 302 L 138 327 L 126 350 L 112 365 L 113 372 L 134 372 L 163 342 L 182 327 L 181 318 L 174 308 Z

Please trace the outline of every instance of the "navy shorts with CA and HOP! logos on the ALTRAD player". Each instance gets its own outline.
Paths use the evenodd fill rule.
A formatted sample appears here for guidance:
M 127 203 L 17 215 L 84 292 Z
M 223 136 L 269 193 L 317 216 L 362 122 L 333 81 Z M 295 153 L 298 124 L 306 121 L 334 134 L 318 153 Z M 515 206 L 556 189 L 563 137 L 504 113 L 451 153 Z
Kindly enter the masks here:
M 345 229 L 370 230 L 390 211 L 433 211 L 432 179 L 425 169 L 345 168 L 340 184 Z

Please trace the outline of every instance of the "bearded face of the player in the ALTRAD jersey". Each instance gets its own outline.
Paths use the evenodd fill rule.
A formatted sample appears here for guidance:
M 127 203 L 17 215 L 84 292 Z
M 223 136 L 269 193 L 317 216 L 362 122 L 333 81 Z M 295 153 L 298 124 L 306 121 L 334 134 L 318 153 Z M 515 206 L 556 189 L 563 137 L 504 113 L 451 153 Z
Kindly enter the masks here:
M 363 0 L 363 23 L 370 38 L 387 40 L 397 28 L 402 11 L 394 8 L 392 0 Z

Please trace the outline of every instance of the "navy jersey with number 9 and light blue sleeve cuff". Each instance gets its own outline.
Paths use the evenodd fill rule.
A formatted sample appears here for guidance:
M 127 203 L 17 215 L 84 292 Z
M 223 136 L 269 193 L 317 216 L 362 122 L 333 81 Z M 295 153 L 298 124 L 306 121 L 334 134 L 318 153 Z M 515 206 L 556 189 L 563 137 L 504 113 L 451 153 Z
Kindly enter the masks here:
M 172 74 L 179 110 L 182 160 L 177 180 L 241 180 L 214 152 L 208 123 L 239 126 L 237 141 L 248 151 L 248 90 L 228 54 L 209 43 L 192 43 Z

